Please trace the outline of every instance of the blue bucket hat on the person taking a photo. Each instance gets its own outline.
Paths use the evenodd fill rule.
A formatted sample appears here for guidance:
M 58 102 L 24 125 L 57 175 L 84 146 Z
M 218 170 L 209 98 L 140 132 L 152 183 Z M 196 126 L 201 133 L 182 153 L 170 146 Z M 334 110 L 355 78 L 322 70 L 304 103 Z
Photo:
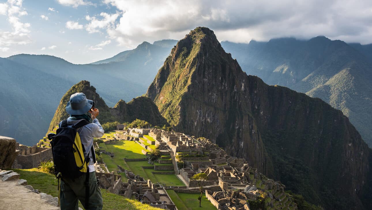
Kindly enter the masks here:
M 74 93 L 67 102 L 66 112 L 70 115 L 86 114 L 93 106 L 93 101 L 87 99 L 84 93 Z

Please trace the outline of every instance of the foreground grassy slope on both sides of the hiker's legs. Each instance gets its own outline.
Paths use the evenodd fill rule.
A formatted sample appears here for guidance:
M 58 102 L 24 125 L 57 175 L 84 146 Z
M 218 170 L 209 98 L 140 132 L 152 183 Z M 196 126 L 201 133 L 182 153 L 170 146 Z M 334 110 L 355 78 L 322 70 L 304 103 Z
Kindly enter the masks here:
M 52 174 L 33 169 L 13 169 L 13 171 L 20 174 L 21 179 L 26 179 L 29 185 L 38 189 L 40 192 L 51 194 L 53 197 L 58 197 L 57 179 Z M 124 198 L 121 195 L 112 194 L 106 190 L 101 189 L 103 197 L 103 209 L 105 210 L 161 210 L 151 207 L 147 204 L 141 204 L 139 201 Z M 79 202 L 79 207 L 83 206 Z

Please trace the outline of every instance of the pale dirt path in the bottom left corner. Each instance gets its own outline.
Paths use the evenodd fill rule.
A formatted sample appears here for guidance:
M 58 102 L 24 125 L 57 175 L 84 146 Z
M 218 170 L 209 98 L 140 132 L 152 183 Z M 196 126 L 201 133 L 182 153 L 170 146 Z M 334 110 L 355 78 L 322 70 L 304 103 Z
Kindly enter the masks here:
M 13 210 L 59 210 L 60 208 L 45 203 L 39 194 L 30 192 L 24 186 L 17 186 L 17 181 L 0 179 L 0 209 Z

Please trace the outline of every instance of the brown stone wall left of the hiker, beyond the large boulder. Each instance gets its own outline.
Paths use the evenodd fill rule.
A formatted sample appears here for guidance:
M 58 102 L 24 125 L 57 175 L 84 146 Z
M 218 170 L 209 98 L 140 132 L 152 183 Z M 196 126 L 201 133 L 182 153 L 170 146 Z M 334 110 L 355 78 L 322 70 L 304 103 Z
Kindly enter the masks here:
M 40 148 L 42 149 L 42 148 Z M 52 149 L 44 149 L 31 155 L 18 155 L 16 157 L 17 164 L 22 166 L 22 169 L 37 168 L 42 161 L 48 161 L 53 158 Z

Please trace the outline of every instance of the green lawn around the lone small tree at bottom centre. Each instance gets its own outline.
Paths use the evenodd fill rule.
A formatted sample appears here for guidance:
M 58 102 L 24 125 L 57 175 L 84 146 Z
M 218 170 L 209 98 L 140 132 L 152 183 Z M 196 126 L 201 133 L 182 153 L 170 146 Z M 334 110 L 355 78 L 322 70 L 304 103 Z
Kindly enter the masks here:
M 198 197 L 200 194 L 189 194 L 189 193 L 180 193 L 174 192 L 174 190 L 167 190 L 170 198 L 176 204 L 178 210 L 214 210 L 216 207 L 205 197 L 203 194 L 202 198 L 202 207 L 199 207 Z

